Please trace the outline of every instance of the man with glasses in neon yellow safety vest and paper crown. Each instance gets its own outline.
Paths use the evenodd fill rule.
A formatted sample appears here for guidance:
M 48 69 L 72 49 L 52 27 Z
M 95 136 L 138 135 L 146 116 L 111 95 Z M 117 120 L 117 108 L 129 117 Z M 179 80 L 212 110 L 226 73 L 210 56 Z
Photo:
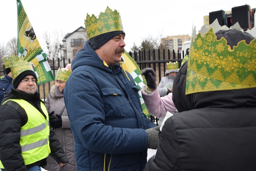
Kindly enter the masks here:
M 41 171 L 49 154 L 60 166 L 67 164 L 48 112 L 37 90 L 37 75 L 30 62 L 11 66 L 13 87 L 0 106 L 0 168 L 3 171 Z

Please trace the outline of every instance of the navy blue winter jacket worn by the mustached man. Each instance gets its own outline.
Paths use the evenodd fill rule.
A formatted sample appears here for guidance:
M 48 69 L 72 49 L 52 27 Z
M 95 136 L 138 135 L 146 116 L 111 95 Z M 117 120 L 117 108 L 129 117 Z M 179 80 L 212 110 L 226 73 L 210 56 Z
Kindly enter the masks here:
M 75 141 L 77 171 L 141 171 L 147 133 L 155 127 L 142 113 L 139 88 L 119 65 L 106 67 L 89 41 L 72 61 L 64 89 Z

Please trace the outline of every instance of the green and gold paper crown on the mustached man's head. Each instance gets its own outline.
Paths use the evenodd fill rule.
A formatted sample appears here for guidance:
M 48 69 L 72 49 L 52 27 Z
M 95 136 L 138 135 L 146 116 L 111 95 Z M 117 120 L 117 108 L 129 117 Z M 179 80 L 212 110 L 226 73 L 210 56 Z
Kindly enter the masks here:
M 116 10 L 112 11 L 108 6 L 105 13 L 100 12 L 99 18 L 87 13 L 84 24 L 89 40 L 103 33 L 124 31 L 120 14 Z

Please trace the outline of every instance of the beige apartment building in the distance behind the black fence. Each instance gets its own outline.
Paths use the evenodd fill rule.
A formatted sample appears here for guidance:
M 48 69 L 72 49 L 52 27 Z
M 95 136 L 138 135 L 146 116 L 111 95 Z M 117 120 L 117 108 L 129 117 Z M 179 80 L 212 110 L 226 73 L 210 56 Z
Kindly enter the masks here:
M 167 38 L 161 39 L 161 44 L 172 51 L 174 49 L 175 52 L 181 51 L 182 43 L 185 41 L 189 41 L 191 36 L 188 34 L 185 35 L 171 35 L 167 36 Z

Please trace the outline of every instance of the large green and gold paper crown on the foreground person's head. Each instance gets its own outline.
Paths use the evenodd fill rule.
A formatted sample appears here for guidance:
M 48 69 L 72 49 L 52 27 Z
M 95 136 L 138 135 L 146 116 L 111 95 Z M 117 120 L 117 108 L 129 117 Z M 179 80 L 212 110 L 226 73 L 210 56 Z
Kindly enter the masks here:
M 243 30 L 239 24 L 231 29 Z M 231 50 L 227 40 L 217 40 L 215 32 L 228 30 L 215 20 L 196 35 L 194 28 L 187 64 L 186 93 L 256 87 L 256 39 L 240 41 Z M 253 30 L 254 29 L 254 30 Z M 255 37 L 256 29 L 247 31 Z

